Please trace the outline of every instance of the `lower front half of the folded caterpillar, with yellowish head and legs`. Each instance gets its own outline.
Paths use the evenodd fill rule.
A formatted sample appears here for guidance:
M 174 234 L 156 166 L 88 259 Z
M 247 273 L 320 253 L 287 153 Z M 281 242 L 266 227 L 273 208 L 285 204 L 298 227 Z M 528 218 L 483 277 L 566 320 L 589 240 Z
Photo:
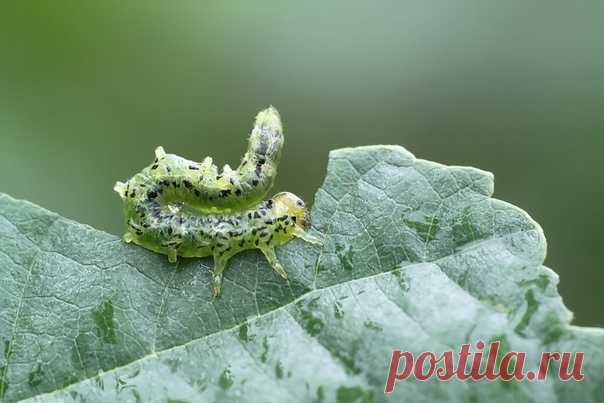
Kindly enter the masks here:
M 305 232 L 309 215 L 304 202 L 292 193 L 278 193 L 256 208 L 232 214 L 200 215 L 184 207 L 161 205 L 154 197 L 132 205 L 126 242 L 168 255 L 214 258 L 213 292 L 220 294 L 222 272 L 235 254 L 260 249 L 283 278 L 287 273 L 277 260 L 275 246 L 294 237 L 320 243 Z

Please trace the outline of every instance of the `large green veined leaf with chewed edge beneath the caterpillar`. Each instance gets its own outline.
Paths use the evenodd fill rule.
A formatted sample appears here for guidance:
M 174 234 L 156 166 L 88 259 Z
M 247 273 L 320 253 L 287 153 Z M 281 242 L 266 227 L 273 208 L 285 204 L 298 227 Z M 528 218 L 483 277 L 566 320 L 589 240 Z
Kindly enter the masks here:
M 110 191 L 110 190 L 108 190 Z M 233 259 L 212 299 L 207 259 L 177 265 L 0 196 L 0 394 L 5 401 L 601 401 L 604 331 L 569 325 L 522 210 L 493 177 L 401 147 L 333 151 L 312 211 L 322 250 Z M 116 214 L 119 214 L 116 200 Z M 393 350 L 499 340 L 584 351 L 582 382 L 419 382 L 383 393 Z

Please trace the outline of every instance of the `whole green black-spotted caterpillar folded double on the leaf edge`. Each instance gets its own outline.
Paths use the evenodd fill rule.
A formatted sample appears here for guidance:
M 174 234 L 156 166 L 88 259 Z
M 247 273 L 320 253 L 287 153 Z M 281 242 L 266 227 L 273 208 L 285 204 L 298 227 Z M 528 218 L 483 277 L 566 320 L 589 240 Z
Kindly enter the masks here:
M 269 107 L 258 113 L 248 150 L 237 170 L 222 173 L 211 158 L 197 163 L 162 147 L 153 163 L 114 190 L 124 202 L 125 242 L 166 254 L 214 258 L 213 293 L 220 294 L 229 259 L 247 249 L 260 249 L 283 278 L 275 247 L 294 237 L 320 244 L 308 233 L 309 213 L 292 193 L 262 201 L 273 185 L 283 147 L 279 113 Z

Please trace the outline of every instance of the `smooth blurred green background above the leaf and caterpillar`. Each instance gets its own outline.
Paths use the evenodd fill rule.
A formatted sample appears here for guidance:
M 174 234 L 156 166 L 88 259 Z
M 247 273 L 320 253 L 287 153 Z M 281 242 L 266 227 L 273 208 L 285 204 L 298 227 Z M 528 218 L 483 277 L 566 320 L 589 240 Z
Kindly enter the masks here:
M 311 201 L 328 151 L 364 144 L 492 171 L 604 325 L 603 2 L 0 5 L 0 191 L 74 220 L 120 234 L 113 183 L 157 145 L 236 165 L 269 104 L 275 191 Z

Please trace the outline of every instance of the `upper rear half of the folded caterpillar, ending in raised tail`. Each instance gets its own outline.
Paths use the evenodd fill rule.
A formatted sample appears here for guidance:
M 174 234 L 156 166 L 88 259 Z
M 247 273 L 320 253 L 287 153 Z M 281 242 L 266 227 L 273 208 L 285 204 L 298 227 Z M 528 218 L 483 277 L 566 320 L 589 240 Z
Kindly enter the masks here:
M 158 147 L 151 165 L 114 189 L 124 199 L 140 198 L 151 184 L 159 184 L 164 204 L 184 203 L 206 213 L 237 211 L 264 199 L 277 175 L 282 147 L 281 118 L 269 107 L 256 116 L 248 149 L 236 170 L 225 165 L 218 172 L 210 157 L 195 162 Z

